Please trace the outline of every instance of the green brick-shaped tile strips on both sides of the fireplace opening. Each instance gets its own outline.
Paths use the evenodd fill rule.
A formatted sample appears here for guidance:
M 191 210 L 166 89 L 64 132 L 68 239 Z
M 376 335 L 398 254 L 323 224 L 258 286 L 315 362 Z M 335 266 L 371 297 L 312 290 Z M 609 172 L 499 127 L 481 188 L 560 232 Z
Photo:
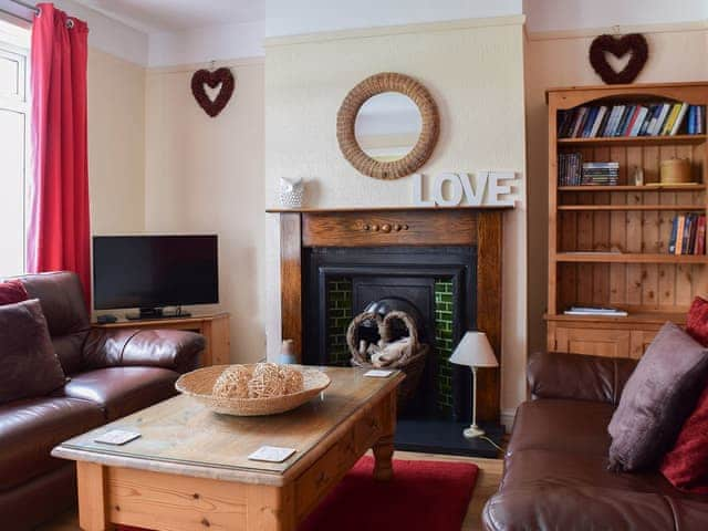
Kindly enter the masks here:
M 326 283 L 327 360 L 331 365 L 348 366 L 350 351 L 346 329 L 352 319 L 352 280 L 331 278 Z M 452 412 L 452 281 L 435 280 L 435 355 L 438 358 L 437 402 L 445 415 Z

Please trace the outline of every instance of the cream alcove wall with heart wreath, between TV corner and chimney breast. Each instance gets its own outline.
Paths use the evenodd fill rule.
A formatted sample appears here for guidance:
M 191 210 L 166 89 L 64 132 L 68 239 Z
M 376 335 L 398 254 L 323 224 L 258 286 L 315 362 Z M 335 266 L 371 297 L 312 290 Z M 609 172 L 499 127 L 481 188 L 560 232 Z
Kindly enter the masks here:
M 236 91 L 210 118 L 196 104 L 191 74 L 208 64 L 148 70 L 145 229 L 218 233 L 220 304 L 231 313 L 231 361 L 266 356 L 263 266 L 263 61 L 230 66 Z

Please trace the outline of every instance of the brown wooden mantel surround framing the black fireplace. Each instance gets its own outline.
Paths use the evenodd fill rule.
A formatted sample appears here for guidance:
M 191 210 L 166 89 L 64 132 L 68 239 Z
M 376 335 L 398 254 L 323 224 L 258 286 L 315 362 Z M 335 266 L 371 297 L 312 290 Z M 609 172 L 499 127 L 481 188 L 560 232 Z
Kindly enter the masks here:
M 280 217 L 281 327 L 300 356 L 303 251 L 325 247 L 477 246 L 477 329 L 501 364 L 502 212 L 511 207 L 269 209 Z M 471 323 L 466 323 L 471 326 Z M 480 369 L 478 416 L 498 420 L 499 368 Z M 471 397 L 470 397 L 471 399 Z

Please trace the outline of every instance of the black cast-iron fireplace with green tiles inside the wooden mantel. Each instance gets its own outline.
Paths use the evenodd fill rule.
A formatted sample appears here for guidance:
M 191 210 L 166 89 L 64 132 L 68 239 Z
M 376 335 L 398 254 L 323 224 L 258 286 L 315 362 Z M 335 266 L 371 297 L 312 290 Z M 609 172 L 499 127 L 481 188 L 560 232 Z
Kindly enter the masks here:
M 346 330 L 354 315 L 372 308 L 405 311 L 430 350 L 402 414 L 469 418 L 469 371 L 448 358 L 462 333 L 477 327 L 475 246 L 313 247 L 304 250 L 303 272 L 304 363 L 348 366 Z

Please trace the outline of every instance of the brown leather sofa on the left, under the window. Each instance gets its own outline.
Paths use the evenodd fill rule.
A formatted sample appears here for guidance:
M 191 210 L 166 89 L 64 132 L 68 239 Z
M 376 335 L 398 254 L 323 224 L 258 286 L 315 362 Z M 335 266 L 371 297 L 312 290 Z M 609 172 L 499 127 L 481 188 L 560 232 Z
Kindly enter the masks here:
M 69 381 L 52 396 L 0 405 L 0 529 L 7 531 L 31 529 L 75 502 L 74 466 L 50 457 L 54 446 L 169 398 L 205 346 L 191 332 L 92 330 L 73 273 L 20 279 L 40 300 Z

